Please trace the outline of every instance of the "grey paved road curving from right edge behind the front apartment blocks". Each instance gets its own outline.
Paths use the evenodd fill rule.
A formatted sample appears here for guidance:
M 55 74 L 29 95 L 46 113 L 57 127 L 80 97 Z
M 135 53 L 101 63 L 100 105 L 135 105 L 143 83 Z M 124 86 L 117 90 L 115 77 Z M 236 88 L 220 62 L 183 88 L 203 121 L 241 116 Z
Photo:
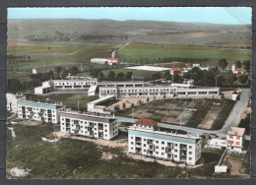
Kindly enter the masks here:
M 237 120 L 239 120 L 239 116 L 244 111 L 244 108 L 246 107 L 249 97 L 250 97 L 250 90 L 244 90 L 241 92 L 240 99 L 236 101 L 234 104 L 233 109 L 231 110 L 227 120 L 225 121 L 224 127 L 221 130 L 204 130 L 204 129 L 197 129 L 197 128 L 190 128 L 190 127 L 184 127 L 184 126 L 176 126 L 176 125 L 169 125 L 164 123 L 159 123 L 160 127 L 165 128 L 171 128 L 171 129 L 179 129 L 186 131 L 188 133 L 191 133 L 193 135 L 203 135 L 205 133 L 208 134 L 216 134 L 219 136 L 219 138 L 225 138 L 225 135 L 228 131 L 228 129 L 231 126 L 237 126 Z M 127 118 L 127 117 L 119 117 L 115 116 L 115 118 L 118 120 L 118 122 L 135 122 L 137 119 Z

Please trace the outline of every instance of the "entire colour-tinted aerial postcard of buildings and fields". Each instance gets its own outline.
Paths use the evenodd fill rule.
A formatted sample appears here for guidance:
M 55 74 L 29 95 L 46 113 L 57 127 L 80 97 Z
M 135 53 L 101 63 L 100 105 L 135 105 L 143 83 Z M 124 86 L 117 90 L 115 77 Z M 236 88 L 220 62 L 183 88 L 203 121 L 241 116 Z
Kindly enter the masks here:
M 251 8 L 9 8 L 7 179 L 249 178 Z

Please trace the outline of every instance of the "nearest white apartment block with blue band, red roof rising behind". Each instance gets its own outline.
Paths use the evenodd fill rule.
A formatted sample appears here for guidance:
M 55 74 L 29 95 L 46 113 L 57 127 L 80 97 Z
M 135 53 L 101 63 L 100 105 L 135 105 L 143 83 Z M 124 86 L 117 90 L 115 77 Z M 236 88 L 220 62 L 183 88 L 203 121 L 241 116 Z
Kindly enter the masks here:
M 201 157 L 201 138 L 160 131 L 157 122 L 139 119 L 128 128 L 128 152 L 195 165 Z

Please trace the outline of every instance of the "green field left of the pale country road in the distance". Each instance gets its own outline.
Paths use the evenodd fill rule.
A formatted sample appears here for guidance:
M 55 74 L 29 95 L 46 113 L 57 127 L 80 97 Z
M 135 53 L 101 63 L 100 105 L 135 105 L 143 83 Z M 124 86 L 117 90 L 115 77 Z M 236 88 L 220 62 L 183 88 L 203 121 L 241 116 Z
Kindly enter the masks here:
M 110 57 L 112 50 L 118 47 L 118 44 L 9 46 L 8 54 L 31 56 L 35 61 L 11 62 L 8 64 L 8 69 L 89 63 L 92 58 Z

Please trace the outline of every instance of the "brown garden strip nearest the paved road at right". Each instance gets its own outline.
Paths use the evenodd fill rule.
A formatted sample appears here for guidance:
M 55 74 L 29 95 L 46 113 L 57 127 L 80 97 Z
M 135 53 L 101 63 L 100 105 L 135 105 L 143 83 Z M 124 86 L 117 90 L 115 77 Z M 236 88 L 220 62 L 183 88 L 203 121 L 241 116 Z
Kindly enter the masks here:
M 219 113 L 221 112 L 222 108 L 223 106 L 220 106 L 220 105 L 212 106 L 211 109 L 208 111 L 206 117 L 198 125 L 198 128 L 211 129 Z

